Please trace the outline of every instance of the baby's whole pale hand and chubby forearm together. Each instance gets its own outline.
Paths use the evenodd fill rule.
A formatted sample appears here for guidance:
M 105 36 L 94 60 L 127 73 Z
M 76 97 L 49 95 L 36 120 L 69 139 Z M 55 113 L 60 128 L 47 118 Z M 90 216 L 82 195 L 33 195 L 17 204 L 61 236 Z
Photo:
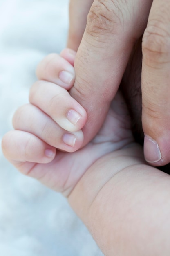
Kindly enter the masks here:
M 105 256 L 169 256 L 170 176 L 145 162 L 120 92 L 96 137 L 78 149 L 87 115 L 68 92 L 74 58 L 65 49 L 38 65 L 30 103 L 16 111 L 14 130 L 2 139 L 4 155 L 21 173 L 63 193 Z M 70 110 L 81 114 L 74 125 Z M 74 144 L 63 140 L 68 133 L 76 135 Z

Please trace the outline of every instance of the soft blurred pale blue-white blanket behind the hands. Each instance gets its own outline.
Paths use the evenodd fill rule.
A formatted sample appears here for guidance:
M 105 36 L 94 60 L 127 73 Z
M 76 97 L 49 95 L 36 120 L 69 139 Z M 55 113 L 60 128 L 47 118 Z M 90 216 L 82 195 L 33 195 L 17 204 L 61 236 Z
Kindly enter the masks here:
M 28 102 L 37 63 L 65 47 L 68 0 L 0 0 L 0 140 Z M 67 200 L 18 173 L 0 149 L 0 256 L 103 255 Z

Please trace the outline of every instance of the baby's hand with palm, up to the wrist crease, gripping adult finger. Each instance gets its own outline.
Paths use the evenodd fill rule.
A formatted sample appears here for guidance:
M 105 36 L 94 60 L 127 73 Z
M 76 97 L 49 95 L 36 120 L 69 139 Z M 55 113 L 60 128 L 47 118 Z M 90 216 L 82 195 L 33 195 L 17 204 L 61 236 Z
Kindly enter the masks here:
M 85 173 L 88 184 L 88 173 L 93 173 L 92 169 L 97 171 L 100 168 L 101 172 L 92 174 L 96 189 L 90 182 L 87 191 L 90 187 L 94 195 L 100 190 L 107 179 L 107 157 L 111 159 L 111 166 L 114 165 L 113 172 L 120 168 L 118 162 L 123 168 L 118 155 L 123 157 L 123 148 L 134 141 L 128 109 L 121 92 L 118 92 L 103 126 L 94 139 L 82 147 L 81 128 L 86 123 L 87 114 L 68 92 L 75 77 L 75 54 L 71 53 L 65 49 L 60 56 L 51 54 L 38 65 L 40 80 L 31 87 L 30 103 L 16 111 L 13 117 L 15 130 L 2 139 L 4 155 L 21 173 L 36 178 L 67 197 L 78 184 L 82 190 L 81 180 L 86 177 Z M 73 76 L 67 76 L 65 70 Z M 129 148 L 127 151 L 129 154 Z M 125 166 L 129 164 L 126 157 L 123 161 Z

